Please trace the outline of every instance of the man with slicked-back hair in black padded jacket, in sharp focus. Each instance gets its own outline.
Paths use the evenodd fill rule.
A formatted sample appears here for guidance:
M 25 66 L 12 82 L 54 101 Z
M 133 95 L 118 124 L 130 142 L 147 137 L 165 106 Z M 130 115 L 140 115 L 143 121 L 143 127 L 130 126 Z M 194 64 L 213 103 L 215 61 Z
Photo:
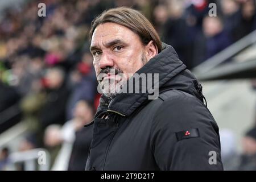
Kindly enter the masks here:
M 201 86 L 151 23 L 119 7 L 98 16 L 90 32 L 103 94 L 86 170 L 222 170 L 218 126 Z M 154 92 L 149 82 L 130 86 L 135 74 L 150 73 L 159 78 Z

